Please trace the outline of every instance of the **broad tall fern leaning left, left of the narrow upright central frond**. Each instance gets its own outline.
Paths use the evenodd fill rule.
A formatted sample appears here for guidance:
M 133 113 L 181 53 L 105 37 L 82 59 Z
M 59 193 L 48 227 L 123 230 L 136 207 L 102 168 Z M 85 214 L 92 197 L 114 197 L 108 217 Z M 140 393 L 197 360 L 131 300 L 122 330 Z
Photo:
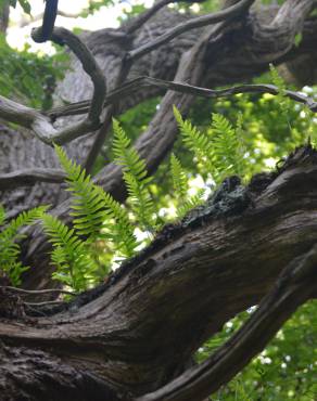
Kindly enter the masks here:
M 87 237 L 91 244 L 105 236 L 117 244 L 123 256 L 132 256 L 138 243 L 127 211 L 101 186 L 93 184 L 85 169 L 69 160 L 60 146 L 55 145 L 55 150 L 73 195 L 71 215 L 74 216 L 76 234 Z M 106 235 L 101 233 L 102 230 Z

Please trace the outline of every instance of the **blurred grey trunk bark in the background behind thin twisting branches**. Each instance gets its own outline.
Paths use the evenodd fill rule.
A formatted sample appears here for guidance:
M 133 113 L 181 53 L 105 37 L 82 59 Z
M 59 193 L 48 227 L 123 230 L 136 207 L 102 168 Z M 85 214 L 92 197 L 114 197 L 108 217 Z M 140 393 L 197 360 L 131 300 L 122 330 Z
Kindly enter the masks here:
M 291 63 L 291 65 L 295 63 L 296 68 L 303 74 L 303 68 L 299 67 L 300 60 L 307 62 L 309 57 L 313 62 L 315 57 L 313 43 L 317 35 L 317 24 L 315 20 L 308 18 L 314 5 L 314 1 L 305 0 L 287 1 L 280 9 L 255 7 L 250 15 L 236 20 L 220 30 L 215 27 L 190 30 L 137 61 L 132 65 L 129 78 L 150 75 L 173 79 L 176 74 L 176 80 L 214 88 L 218 85 L 250 80 L 253 76 L 266 70 L 270 62 Z M 87 44 L 105 74 L 109 90 L 115 85 L 121 60 L 127 51 L 140 47 L 164 33 L 168 27 L 188 18 L 190 18 L 189 15 L 163 10 L 128 37 L 113 29 L 86 34 Z M 303 34 L 303 41 L 299 48 L 295 48 L 293 42 L 297 33 Z M 203 40 L 204 36 L 207 38 L 206 46 L 193 47 L 198 43 L 196 38 Z M 312 65 L 310 80 L 314 70 L 315 66 Z M 67 73 L 61 83 L 59 95 L 73 102 L 89 98 L 91 90 L 89 79 L 80 69 L 78 62 L 74 61 L 73 72 Z M 125 99 L 119 104 L 118 112 L 158 93 L 162 92 L 157 89 L 142 88 L 140 92 Z M 167 92 L 148 131 L 138 139 L 136 146 L 141 156 L 145 157 L 150 173 L 155 171 L 170 151 L 177 137 L 172 105 L 178 105 L 186 115 L 192 103 L 193 98 L 190 95 Z M 60 124 L 66 122 L 61 120 Z M 13 141 L 12 138 L 14 138 Z M 93 140 L 94 135 L 90 134 L 72 142 L 67 146 L 69 155 L 84 163 Z M 31 170 L 35 167 L 59 168 L 51 147 L 29 138 L 27 133 L 13 135 L 11 130 L 2 127 L 1 143 L 0 168 L 2 172 L 21 171 L 26 168 Z M 126 192 L 118 167 L 106 166 L 97 180 L 114 197 L 125 199 Z M 48 185 L 40 182 L 31 187 L 22 186 L 17 190 L 0 192 L 0 200 L 10 210 L 12 217 L 23 209 L 46 203 L 53 207 L 60 205 L 54 212 L 65 218 L 68 207 L 67 203 L 62 203 L 65 194 L 60 185 Z M 34 253 L 35 249 L 37 249 L 36 253 Z M 48 285 L 50 269 L 47 269 L 47 253 L 48 248 L 42 234 L 36 232 L 30 235 L 28 243 L 25 244 L 24 255 L 26 262 L 35 269 L 31 275 L 26 275 L 25 285 L 27 287 L 36 288 Z

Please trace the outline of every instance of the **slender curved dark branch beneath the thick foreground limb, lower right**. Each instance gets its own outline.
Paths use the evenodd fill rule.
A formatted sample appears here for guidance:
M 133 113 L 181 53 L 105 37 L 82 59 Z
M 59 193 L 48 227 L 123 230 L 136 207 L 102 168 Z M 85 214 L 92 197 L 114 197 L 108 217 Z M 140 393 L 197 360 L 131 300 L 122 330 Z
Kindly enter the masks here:
M 317 245 L 282 271 L 272 290 L 243 326 L 202 364 L 136 401 L 201 401 L 232 379 L 261 352 L 317 289 Z

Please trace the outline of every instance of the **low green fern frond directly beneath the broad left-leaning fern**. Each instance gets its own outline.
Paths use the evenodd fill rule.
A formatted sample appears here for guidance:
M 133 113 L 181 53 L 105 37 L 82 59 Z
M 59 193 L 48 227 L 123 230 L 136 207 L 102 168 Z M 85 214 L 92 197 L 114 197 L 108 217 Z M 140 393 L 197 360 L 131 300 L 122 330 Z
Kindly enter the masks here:
M 84 290 L 93 276 L 98 266 L 91 259 L 87 244 L 76 234 L 74 229 L 51 215 L 42 216 L 42 225 L 50 243 L 53 245 L 51 259 L 56 268 L 53 279 Z

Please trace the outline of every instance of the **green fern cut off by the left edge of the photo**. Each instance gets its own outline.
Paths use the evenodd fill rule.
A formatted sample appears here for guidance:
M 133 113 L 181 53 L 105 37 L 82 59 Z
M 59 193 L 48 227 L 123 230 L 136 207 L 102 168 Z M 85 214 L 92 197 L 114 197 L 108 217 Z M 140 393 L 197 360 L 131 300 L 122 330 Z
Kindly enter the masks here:
M 0 268 L 9 276 L 13 285 L 21 284 L 21 274 L 29 269 L 18 260 L 21 248 L 16 241 L 25 237 L 25 234 L 21 233 L 21 229 L 33 225 L 42 217 L 47 208 L 47 206 L 39 206 L 21 212 L 0 233 Z M 0 208 L 0 225 L 5 223 L 3 207 Z

